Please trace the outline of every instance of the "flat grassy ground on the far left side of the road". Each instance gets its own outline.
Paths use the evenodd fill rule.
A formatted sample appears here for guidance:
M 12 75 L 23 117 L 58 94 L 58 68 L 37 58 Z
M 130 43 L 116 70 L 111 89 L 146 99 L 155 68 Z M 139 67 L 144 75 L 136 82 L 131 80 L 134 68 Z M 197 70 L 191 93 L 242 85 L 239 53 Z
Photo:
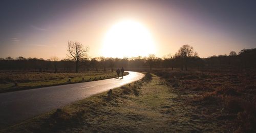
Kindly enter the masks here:
M 124 75 L 129 73 L 125 72 Z M 0 73 L 0 93 L 27 90 L 30 88 L 96 81 L 115 78 L 115 72 L 88 73 Z M 15 83 L 17 83 L 15 85 Z

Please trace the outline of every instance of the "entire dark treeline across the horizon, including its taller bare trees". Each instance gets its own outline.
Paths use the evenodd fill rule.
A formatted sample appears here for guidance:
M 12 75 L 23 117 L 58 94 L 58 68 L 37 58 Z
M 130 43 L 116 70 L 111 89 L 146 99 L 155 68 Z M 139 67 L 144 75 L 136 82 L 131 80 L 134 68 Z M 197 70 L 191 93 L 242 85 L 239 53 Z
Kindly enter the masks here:
M 147 57 L 132 58 L 88 58 L 89 48 L 84 48 L 78 41 L 68 42 L 67 59 L 58 60 L 42 58 L 0 58 L 0 70 L 37 71 L 37 72 L 78 72 L 78 71 L 114 71 L 116 68 L 127 69 L 165 69 L 166 72 L 178 68 L 180 70 L 204 68 L 255 68 L 256 49 L 243 49 L 237 54 L 200 58 L 192 46 L 184 45 L 174 55 L 168 54 L 159 58 L 154 54 Z

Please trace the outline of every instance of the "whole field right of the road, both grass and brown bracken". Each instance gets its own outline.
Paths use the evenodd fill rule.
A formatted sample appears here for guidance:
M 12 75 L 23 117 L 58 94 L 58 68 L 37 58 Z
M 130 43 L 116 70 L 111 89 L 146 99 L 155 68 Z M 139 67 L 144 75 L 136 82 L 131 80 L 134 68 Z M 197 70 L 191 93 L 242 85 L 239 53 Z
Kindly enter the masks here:
M 253 73 L 156 74 L 3 132 L 255 132 Z

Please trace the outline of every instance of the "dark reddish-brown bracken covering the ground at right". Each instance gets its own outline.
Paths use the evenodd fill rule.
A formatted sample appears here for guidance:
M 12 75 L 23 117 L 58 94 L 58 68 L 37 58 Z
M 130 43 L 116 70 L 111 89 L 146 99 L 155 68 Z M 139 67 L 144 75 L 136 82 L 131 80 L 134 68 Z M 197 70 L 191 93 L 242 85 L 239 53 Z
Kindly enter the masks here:
M 256 71 L 204 70 L 156 72 L 195 106 L 194 115 L 229 131 L 255 132 Z

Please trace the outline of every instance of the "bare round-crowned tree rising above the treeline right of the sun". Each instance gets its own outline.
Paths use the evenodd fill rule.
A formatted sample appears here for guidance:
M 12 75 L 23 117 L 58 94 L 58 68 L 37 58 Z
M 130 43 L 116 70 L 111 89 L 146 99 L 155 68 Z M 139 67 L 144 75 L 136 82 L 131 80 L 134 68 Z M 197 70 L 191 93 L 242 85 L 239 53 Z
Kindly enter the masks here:
M 193 53 L 194 53 L 194 48 L 189 45 L 183 45 L 179 50 L 179 54 L 181 55 L 181 57 L 183 59 L 182 62 L 185 64 L 186 70 L 187 70 L 188 58 L 193 56 Z

